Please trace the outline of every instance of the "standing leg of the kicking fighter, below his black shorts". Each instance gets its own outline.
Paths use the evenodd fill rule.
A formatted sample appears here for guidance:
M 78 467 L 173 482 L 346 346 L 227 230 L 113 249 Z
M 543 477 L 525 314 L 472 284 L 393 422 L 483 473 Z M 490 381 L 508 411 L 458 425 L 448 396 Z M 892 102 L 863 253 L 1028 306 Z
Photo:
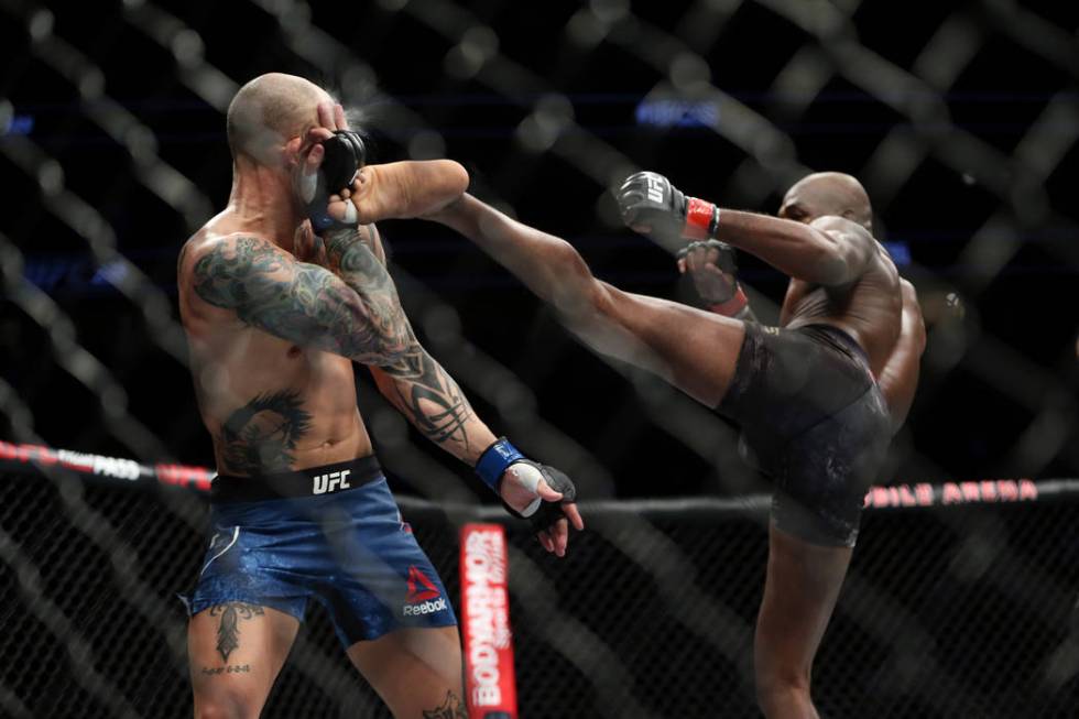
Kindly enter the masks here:
M 826 547 L 770 530 L 769 573 L 756 621 L 756 696 L 769 719 L 816 719 L 813 657 L 836 607 L 850 547 Z

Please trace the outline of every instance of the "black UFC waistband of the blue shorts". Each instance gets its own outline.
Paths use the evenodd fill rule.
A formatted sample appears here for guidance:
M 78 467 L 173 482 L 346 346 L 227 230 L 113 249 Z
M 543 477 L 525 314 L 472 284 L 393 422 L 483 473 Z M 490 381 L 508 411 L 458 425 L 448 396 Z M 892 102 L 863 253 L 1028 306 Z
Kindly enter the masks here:
M 214 503 L 259 502 L 290 497 L 317 497 L 357 489 L 382 477 L 374 455 L 258 477 L 218 475 L 210 484 Z

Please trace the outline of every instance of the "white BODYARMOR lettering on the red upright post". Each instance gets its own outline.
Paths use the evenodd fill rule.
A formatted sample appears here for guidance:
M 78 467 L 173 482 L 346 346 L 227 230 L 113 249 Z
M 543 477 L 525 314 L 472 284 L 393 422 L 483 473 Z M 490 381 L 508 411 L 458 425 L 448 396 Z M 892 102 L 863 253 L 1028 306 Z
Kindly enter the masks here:
M 511 647 L 505 593 L 505 544 L 501 532 L 477 531 L 465 546 L 468 669 L 473 706 L 499 706 L 500 651 Z

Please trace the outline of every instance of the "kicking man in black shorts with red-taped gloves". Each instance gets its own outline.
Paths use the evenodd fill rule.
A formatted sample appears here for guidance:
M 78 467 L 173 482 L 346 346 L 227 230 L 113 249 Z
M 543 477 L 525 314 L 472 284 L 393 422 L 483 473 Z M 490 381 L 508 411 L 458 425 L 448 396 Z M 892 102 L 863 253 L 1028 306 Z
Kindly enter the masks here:
M 719 239 L 789 275 L 780 326 L 726 316 L 743 309 L 744 301 L 730 302 L 737 287 L 720 297 L 718 313 L 622 292 L 595 279 L 569 243 L 469 195 L 432 219 L 490 253 L 586 344 L 660 374 L 741 426 L 775 486 L 758 700 L 771 718 L 816 717 L 813 657 L 865 489 L 917 384 L 925 329 L 914 290 L 873 238 L 869 198 L 847 175 L 806 177 L 777 218 L 687 198 L 654 173 L 628 178 L 618 199 L 630 227 L 667 247 Z

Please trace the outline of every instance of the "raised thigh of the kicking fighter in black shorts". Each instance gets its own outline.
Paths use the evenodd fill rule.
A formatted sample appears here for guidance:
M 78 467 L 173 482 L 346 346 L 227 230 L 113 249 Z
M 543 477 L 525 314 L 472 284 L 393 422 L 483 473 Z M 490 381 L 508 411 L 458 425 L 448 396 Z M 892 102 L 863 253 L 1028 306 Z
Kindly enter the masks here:
M 667 299 L 602 286 L 601 315 L 636 340 L 623 342 L 628 351 L 620 359 L 660 374 L 706 406 L 718 405 L 734 375 L 745 326 Z M 613 338 L 619 333 L 611 334 Z

